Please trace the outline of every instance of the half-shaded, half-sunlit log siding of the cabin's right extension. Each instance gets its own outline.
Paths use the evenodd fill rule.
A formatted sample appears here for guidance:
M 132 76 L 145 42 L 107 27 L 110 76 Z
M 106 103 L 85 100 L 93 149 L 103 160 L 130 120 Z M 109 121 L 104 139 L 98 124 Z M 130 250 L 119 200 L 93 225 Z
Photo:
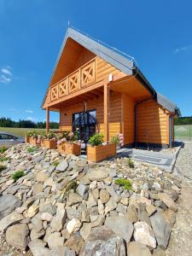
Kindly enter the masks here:
M 169 143 L 168 113 L 154 100 L 137 106 L 137 143 Z

